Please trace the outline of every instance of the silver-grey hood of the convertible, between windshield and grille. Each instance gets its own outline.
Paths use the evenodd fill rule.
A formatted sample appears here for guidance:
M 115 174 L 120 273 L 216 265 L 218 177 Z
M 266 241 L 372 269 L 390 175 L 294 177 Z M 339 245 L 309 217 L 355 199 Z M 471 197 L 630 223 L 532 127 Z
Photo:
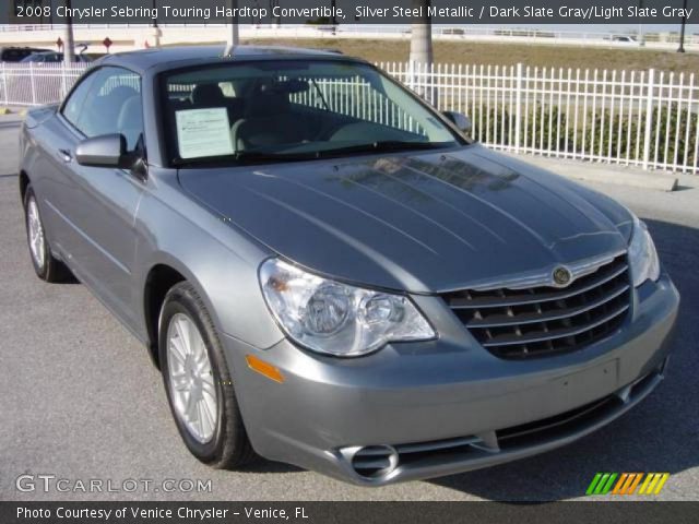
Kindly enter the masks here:
M 182 169 L 201 203 L 276 253 L 347 282 L 437 293 L 619 252 L 611 199 L 479 145 Z

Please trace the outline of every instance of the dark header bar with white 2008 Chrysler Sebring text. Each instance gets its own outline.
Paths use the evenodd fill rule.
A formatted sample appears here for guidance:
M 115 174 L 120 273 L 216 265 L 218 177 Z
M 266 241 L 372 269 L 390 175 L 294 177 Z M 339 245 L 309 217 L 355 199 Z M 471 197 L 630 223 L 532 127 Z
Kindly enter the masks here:
M 5 2 L 3 2 L 5 3 Z M 221 24 L 680 24 L 699 23 L 696 0 L 9 0 L 0 23 Z M 686 10 L 684 5 L 687 5 Z M 422 5 L 420 5 L 422 4 Z M 415 7 L 418 5 L 418 7 Z M 3 8 L 0 8 L 2 10 Z M 3 20 L 9 16 L 8 20 Z

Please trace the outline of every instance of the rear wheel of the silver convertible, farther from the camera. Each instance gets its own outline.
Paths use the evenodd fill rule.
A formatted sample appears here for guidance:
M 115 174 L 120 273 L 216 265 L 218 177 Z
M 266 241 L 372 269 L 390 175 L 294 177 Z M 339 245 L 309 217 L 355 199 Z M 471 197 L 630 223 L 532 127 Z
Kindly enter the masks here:
M 27 186 L 24 193 L 24 225 L 29 258 L 36 275 L 50 283 L 66 281 L 70 275 L 70 270 L 51 254 L 46 228 L 31 184 Z

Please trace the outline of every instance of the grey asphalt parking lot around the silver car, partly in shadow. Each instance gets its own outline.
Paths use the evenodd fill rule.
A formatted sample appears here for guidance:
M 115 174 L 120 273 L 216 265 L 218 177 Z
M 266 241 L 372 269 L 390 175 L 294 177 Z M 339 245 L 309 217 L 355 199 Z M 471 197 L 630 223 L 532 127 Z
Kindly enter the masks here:
M 544 455 L 369 489 L 263 461 L 245 472 L 212 471 L 187 452 L 145 349 L 84 286 L 35 277 L 17 190 L 19 120 L 2 118 L 0 499 L 559 500 L 582 498 L 596 472 L 668 472 L 660 498 L 699 499 L 699 181 L 683 178 L 674 193 L 595 187 L 648 221 L 683 296 L 666 380 L 648 400 Z M 44 492 L 38 483 L 20 492 L 22 474 L 68 479 L 68 492 Z M 90 479 L 117 488 L 127 479 L 153 484 L 147 492 L 143 483 L 128 492 L 73 489 Z M 211 480 L 211 489 L 165 492 L 158 486 L 167 479 Z

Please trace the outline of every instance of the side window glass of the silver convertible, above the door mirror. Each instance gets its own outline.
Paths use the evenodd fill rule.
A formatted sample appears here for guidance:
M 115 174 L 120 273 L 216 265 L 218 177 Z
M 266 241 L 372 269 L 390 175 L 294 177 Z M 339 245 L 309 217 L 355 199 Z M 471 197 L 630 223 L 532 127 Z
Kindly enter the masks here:
M 90 138 L 123 134 L 128 150 L 133 151 L 143 134 L 140 76 L 126 69 L 111 67 L 102 68 L 92 76 L 78 120 L 73 122 L 68 116 L 66 118 Z

